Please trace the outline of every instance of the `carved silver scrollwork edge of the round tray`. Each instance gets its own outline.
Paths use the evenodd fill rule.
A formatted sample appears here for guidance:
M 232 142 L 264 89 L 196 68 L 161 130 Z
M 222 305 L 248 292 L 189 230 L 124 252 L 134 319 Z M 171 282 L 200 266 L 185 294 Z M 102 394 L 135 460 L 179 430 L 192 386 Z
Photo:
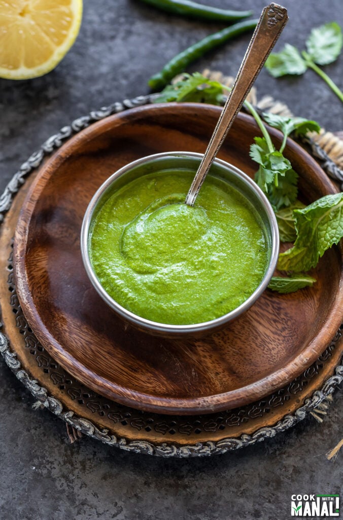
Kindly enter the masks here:
M 41 164 L 45 155 L 59 148 L 62 145 L 63 140 L 68 139 L 76 132 L 81 131 L 92 122 L 105 118 L 112 113 L 121 112 L 128 108 L 133 108 L 150 102 L 151 96 L 141 96 L 133 100 L 124 100 L 122 103 L 114 103 L 110 107 L 101 108 L 99 111 L 91 112 L 83 118 L 78 118 L 70 126 L 63 127 L 58 134 L 50 137 L 45 141 L 41 149 L 33 153 L 28 161 L 21 166 L 20 170 L 10 181 L 2 197 L 0 197 L 0 222 L 3 220 L 4 214 L 11 206 L 14 194 L 19 191 L 21 185 L 24 183 L 24 177 Z M 30 390 L 32 395 L 41 401 L 45 408 L 55 413 L 71 426 L 75 427 L 76 430 L 80 430 L 84 434 L 101 440 L 103 443 L 111 446 L 120 447 L 128 451 L 154 454 L 163 457 L 184 458 L 209 456 L 211 454 L 225 453 L 273 437 L 276 433 L 285 431 L 300 420 L 304 419 L 310 411 L 318 407 L 320 402 L 322 402 L 328 395 L 331 395 L 343 380 L 343 366 L 339 365 L 336 367 L 336 374 L 331 376 L 320 390 L 315 391 L 312 397 L 307 399 L 305 404 L 298 408 L 294 414 L 285 415 L 285 417 L 275 426 L 262 427 L 252 435 L 243 434 L 240 438 L 224 438 L 219 441 L 207 441 L 203 443 L 197 442 L 195 444 L 183 446 L 177 446 L 171 443 L 154 445 L 148 441 L 127 441 L 125 438 L 117 438 L 115 435 L 111 435 L 109 430 L 106 428 L 99 428 L 93 422 L 78 417 L 73 411 L 63 409 L 63 406 L 58 399 L 50 395 L 46 388 L 40 386 L 31 378 L 28 372 L 22 369 L 16 353 L 11 349 L 6 335 L 2 332 L 0 332 L 0 352 L 3 355 L 6 364 L 15 373 L 18 380 Z

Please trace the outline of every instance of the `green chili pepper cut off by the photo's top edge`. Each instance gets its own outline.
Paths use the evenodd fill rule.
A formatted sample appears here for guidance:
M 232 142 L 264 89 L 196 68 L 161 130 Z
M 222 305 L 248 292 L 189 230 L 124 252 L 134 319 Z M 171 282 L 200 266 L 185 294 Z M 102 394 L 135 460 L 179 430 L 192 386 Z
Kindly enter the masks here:
M 219 9 L 217 7 L 197 4 L 190 0 L 142 0 L 142 2 L 176 15 L 187 16 L 189 18 L 202 18 L 204 20 L 230 22 L 246 18 L 253 14 L 253 11 Z

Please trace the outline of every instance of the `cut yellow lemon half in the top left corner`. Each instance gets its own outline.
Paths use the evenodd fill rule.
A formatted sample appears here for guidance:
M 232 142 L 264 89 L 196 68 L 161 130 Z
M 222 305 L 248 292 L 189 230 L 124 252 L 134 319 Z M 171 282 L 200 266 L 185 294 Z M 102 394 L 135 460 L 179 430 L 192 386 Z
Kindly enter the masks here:
M 0 77 L 54 69 L 80 30 L 82 0 L 0 0 Z

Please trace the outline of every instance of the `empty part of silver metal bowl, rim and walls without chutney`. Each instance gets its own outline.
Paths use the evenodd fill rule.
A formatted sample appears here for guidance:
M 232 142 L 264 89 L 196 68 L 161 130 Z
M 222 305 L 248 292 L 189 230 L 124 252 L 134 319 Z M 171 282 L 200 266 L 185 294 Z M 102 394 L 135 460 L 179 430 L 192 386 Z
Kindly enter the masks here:
M 226 323 L 243 314 L 250 306 L 253 305 L 253 303 L 256 302 L 257 298 L 267 288 L 267 285 L 276 267 L 276 262 L 278 261 L 278 224 L 276 223 L 275 214 L 265 194 L 260 190 L 257 184 L 241 170 L 225 161 L 216 159 L 210 169 L 209 175 L 220 177 L 221 179 L 228 181 L 231 185 L 239 189 L 254 205 L 263 223 L 266 242 L 269 250 L 269 265 L 266 269 L 265 276 L 261 280 L 261 283 L 254 291 L 254 293 L 250 295 L 247 300 L 245 300 L 245 302 L 243 302 L 239 307 L 214 320 L 191 325 L 170 325 L 167 323 L 150 321 L 148 319 L 141 318 L 134 313 L 131 313 L 129 310 L 125 309 L 115 300 L 113 300 L 113 298 L 103 289 L 95 274 L 95 271 L 93 270 L 93 266 L 91 265 L 88 250 L 90 226 L 93 215 L 95 214 L 99 205 L 102 205 L 102 203 L 107 200 L 107 196 L 109 193 L 113 193 L 113 189 L 119 189 L 125 184 L 129 183 L 131 180 L 140 177 L 141 175 L 170 170 L 170 168 L 181 168 L 182 170 L 189 169 L 195 174 L 201 159 L 202 154 L 200 153 L 166 152 L 149 155 L 148 157 L 143 157 L 142 159 L 131 162 L 123 168 L 120 168 L 120 170 L 105 180 L 105 182 L 95 193 L 93 199 L 91 199 L 84 215 L 81 229 L 81 254 L 87 275 L 91 283 L 94 285 L 95 289 L 103 298 L 103 300 L 110 307 L 112 307 L 112 309 L 118 315 L 129 321 L 137 328 L 151 334 L 167 337 L 186 337 L 187 335 L 194 337 L 208 334 L 216 329 L 222 328 Z

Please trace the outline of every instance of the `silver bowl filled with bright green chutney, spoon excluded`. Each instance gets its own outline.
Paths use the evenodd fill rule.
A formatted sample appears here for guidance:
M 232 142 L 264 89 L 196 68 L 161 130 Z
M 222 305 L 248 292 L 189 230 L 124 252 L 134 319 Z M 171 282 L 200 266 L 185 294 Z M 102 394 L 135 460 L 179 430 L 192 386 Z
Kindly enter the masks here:
M 272 207 L 256 183 L 216 159 L 184 203 L 202 154 L 165 152 L 111 175 L 83 219 L 81 253 L 103 300 L 139 329 L 200 336 L 243 314 L 278 261 Z

